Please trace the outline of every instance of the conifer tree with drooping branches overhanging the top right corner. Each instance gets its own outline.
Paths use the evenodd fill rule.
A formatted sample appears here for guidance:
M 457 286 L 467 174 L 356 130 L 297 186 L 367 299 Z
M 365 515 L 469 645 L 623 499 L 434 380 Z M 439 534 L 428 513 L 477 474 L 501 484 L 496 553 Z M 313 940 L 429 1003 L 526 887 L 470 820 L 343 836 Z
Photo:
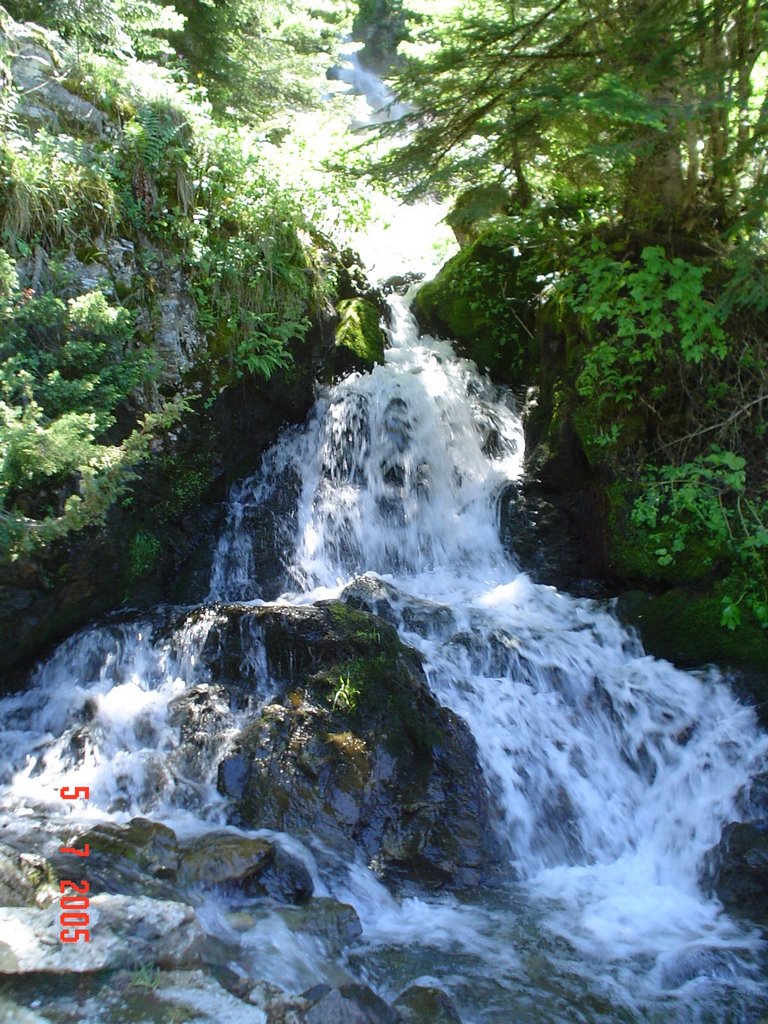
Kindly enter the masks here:
M 759 0 L 471 0 L 413 31 L 394 79 L 413 112 L 379 171 L 412 193 L 497 176 L 524 202 L 531 177 L 599 180 L 638 226 L 762 213 Z

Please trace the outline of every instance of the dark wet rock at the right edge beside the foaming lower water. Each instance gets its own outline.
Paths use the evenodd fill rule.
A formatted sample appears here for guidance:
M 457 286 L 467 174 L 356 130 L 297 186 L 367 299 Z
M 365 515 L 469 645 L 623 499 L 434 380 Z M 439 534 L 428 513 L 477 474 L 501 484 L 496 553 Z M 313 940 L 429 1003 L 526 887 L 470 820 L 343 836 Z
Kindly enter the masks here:
M 710 854 L 712 889 L 723 903 L 768 922 L 768 820 L 733 821 Z

